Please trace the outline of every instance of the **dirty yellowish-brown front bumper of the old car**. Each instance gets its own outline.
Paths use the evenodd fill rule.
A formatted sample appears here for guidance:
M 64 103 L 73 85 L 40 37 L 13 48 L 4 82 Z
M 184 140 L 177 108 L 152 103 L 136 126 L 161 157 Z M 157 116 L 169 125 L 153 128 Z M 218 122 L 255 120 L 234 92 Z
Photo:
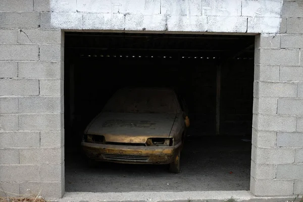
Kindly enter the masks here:
M 181 149 L 175 146 L 129 146 L 81 142 L 85 155 L 92 160 L 135 164 L 169 164 Z

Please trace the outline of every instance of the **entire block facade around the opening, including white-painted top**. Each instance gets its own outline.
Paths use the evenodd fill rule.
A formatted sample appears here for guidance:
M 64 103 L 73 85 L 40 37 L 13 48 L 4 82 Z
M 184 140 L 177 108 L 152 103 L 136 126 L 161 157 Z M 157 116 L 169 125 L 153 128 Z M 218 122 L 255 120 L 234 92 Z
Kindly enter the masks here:
M 261 33 L 255 46 L 250 191 L 302 194 L 303 2 L 284 1 L 281 10 L 280 1 L 163 1 L 156 13 L 148 8 L 159 1 L 109 1 L 106 7 L 76 2 L 0 3 L 1 195 L 2 189 L 41 190 L 48 198 L 64 194 L 66 29 Z

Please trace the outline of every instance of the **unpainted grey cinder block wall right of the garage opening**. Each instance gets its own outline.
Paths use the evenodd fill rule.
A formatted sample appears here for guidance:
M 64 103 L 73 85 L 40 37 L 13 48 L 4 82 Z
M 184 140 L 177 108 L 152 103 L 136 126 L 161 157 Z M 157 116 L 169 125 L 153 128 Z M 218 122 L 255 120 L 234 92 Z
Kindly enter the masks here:
M 284 1 L 280 33 L 255 47 L 250 191 L 303 194 L 303 2 Z

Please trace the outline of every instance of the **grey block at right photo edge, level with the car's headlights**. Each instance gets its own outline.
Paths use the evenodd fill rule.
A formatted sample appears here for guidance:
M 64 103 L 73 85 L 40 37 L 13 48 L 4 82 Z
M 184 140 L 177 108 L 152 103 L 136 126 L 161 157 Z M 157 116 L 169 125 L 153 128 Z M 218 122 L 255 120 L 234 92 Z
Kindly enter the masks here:
M 300 147 L 300 146 L 302 146 L 302 143 L 303 143 L 303 133 L 300 133 L 300 132 L 293 132 L 293 133 L 278 132 L 277 133 L 277 146 Z

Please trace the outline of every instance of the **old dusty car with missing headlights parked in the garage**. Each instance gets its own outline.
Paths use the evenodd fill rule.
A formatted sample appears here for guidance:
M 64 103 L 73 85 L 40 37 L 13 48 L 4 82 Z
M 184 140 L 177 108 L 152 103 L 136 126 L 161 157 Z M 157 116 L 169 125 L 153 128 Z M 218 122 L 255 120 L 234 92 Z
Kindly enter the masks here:
M 94 161 L 169 164 L 180 172 L 189 126 L 184 99 L 170 88 L 122 88 L 86 127 L 81 146 Z

